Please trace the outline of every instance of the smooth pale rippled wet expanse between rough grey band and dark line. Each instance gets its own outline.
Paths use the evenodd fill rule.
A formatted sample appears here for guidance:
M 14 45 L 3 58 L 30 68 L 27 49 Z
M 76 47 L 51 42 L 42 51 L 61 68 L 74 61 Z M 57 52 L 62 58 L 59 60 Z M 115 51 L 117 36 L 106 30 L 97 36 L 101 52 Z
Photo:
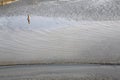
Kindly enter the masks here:
M 0 65 L 119 63 L 120 21 L 0 18 Z

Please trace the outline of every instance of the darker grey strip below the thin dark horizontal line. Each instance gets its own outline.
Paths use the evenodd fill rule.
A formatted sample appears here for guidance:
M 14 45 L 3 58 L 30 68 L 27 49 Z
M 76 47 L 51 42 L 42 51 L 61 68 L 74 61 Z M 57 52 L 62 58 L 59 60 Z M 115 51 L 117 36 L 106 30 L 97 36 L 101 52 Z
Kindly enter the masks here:
M 120 66 L 26 65 L 0 68 L 1 80 L 119 80 Z

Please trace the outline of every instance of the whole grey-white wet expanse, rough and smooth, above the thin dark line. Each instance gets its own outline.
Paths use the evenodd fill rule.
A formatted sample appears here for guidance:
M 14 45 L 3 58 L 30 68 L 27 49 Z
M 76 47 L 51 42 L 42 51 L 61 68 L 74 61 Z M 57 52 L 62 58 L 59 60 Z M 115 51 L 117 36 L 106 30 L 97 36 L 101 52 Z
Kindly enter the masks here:
M 0 6 L 1 65 L 119 63 L 119 12 L 118 0 L 19 0 Z

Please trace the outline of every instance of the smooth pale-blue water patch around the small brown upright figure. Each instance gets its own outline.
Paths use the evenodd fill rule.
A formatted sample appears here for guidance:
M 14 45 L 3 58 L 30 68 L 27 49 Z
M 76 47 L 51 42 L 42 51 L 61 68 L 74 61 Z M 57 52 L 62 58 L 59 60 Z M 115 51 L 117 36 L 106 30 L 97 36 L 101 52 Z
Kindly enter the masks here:
M 0 18 L 0 29 L 23 29 L 23 30 L 51 30 L 62 27 L 77 26 L 79 22 L 65 18 L 30 16 L 28 24 L 27 16 L 12 16 Z

